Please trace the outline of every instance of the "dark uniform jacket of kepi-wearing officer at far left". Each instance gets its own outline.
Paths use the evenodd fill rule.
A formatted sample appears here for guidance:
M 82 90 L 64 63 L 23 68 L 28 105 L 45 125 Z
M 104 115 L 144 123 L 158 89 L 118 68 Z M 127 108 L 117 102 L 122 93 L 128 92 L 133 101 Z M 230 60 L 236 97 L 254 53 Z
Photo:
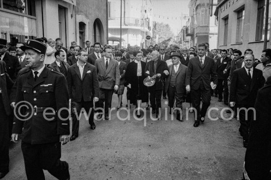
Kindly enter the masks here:
M 5 56 L 2 60 L 5 62 L 7 74 L 14 81 L 17 77 L 19 70 L 21 69 L 21 64 L 18 57 L 11 56 L 8 53 L 5 53 Z

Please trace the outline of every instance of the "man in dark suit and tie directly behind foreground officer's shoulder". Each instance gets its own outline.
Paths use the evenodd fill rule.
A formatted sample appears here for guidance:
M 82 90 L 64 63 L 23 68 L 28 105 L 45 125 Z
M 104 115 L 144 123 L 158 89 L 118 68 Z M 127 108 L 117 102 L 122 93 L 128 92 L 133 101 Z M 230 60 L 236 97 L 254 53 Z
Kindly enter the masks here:
M 66 58 L 64 50 L 55 52 L 55 58 L 56 60 L 53 63 L 51 63 L 48 67 L 50 69 L 54 69 L 55 71 L 61 72 L 67 79 L 69 65 L 67 62 L 64 61 Z

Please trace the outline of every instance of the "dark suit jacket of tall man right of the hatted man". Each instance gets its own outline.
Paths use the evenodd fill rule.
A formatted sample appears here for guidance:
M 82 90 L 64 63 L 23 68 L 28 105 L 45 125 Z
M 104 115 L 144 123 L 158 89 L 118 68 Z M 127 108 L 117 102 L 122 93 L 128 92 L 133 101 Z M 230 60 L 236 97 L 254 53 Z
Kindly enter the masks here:
M 205 90 L 211 90 L 211 81 L 217 85 L 217 73 L 214 60 L 206 56 L 203 67 L 201 66 L 199 56 L 189 60 L 185 85 L 190 85 L 192 90 L 198 90 L 201 80 L 203 80 Z

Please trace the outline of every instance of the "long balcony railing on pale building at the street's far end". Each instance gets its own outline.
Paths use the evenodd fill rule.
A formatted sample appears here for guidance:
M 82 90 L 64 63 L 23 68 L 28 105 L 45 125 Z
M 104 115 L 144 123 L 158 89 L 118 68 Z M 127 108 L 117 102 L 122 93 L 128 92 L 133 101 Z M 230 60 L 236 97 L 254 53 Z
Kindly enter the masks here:
M 108 19 L 109 26 L 120 26 L 120 17 L 111 17 Z M 143 27 L 144 21 L 139 18 L 122 18 L 122 26 Z M 146 20 L 146 28 L 149 29 L 149 21 Z

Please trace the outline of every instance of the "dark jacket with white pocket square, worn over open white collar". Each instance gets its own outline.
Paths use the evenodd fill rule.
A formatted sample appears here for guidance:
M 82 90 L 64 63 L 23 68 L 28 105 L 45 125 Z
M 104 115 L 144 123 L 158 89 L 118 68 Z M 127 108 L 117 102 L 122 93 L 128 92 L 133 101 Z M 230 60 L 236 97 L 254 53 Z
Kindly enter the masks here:
M 99 82 L 96 68 L 86 63 L 81 78 L 79 67 L 76 64 L 68 67 L 68 91 L 69 98 L 73 102 L 93 101 L 94 97 L 99 98 Z

